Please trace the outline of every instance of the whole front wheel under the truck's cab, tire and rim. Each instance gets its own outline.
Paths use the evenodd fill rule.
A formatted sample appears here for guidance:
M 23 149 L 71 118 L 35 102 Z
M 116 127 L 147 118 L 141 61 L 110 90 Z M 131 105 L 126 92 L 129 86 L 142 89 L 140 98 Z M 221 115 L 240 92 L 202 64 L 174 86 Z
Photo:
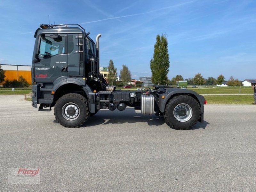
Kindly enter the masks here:
M 87 100 L 77 93 L 63 95 L 55 104 L 54 115 L 65 127 L 79 127 L 89 117 Z

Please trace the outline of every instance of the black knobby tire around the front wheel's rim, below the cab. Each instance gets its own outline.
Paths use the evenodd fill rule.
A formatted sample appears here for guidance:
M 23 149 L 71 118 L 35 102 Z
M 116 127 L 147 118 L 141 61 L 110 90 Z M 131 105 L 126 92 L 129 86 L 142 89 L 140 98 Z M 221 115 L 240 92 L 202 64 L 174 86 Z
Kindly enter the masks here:
M 75 103 L 79 109 L 80 114 L 76 120 L 69 121 L 65 119 L 62 115 L 62 108 L 67 103 Z M 63 95 L 59 100 L 57 100 L 54 107 L 54 116 L 55 119 L 65 127 L 80 127 L 85 123 L 90 115 L 87 99 L 77 93 L 68 93 Z

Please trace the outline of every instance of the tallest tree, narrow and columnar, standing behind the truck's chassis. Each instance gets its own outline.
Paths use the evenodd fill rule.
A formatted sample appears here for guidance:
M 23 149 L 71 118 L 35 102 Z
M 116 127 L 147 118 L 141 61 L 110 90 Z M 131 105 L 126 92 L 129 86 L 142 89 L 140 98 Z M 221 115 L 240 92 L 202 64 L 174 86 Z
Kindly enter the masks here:
M 169 72 L 170 61 L 168 53 L 167 35 L 157 35 L 154 45 L 153 58 L 150 60 L 153 84 L 166 84 L 168 82 L 167 74 Z

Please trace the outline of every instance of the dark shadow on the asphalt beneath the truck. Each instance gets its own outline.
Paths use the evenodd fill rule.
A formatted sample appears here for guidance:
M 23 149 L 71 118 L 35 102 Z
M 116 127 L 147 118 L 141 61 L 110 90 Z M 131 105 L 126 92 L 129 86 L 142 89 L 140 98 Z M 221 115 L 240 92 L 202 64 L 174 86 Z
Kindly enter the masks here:
M 56 120 L 53 122 L 58 123 Z M 89 117 L 85 124 L 81 127 L 124 123 L 134 124 L 137 122 L 144 122 L 148 123 L 148 125 L 155 126 L 165 124 L 163 116 L 142 115 L 141 113 L 136 113 L 134 108 L 126 108 L 124 111 L 118 111 L 117 109 L 115 111 L 100 110 L 94 116 Z M 198 122 L 192 129 L 205 129 L 208 124 L 209 123 L 206 121 L 204 121 L 204 124 Z

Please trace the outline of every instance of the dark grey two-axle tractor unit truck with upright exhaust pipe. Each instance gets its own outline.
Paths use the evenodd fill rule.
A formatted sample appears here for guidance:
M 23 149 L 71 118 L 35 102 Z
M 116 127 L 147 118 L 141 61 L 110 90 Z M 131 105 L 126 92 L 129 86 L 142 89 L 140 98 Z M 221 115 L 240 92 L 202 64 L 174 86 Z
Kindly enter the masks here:
M 100 109 L 164 116 L 174 129 L 204 121 L 203 96 L 191 90 L 156 85 L 154 89 L 117 90 L 100 74 L 100 44 L 77 24 L 44 25 L 35 32 L 32 59 L 32 106 L 51 111 L 65 127 L 86 126 Z M 127 117 L 128 118 L 128 117 Z

